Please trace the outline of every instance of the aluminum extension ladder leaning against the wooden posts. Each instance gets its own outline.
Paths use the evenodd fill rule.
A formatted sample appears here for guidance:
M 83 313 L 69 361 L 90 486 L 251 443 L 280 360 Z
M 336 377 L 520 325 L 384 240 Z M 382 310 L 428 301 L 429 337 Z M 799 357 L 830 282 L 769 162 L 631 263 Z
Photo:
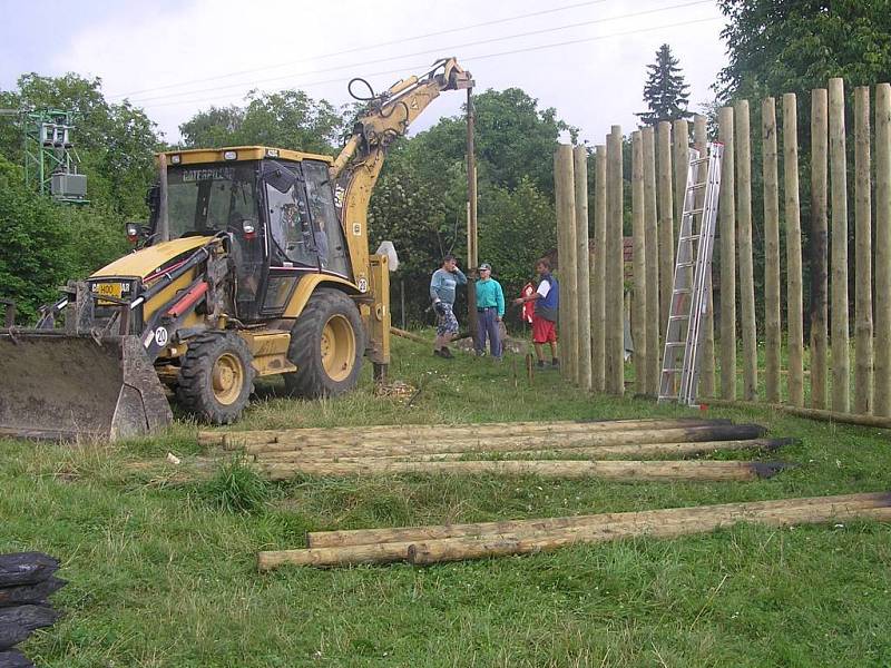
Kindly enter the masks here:
M 659 403 L 696 405 L 702 317 L 708 304 L 712 250 L 721 190 L 724 145 L 708 145 L 708 157 L 691 149 L 684 210 L 677 236 L 675 276 L 659 381 Z M 702 167 L 705 178 L 701 179 Z

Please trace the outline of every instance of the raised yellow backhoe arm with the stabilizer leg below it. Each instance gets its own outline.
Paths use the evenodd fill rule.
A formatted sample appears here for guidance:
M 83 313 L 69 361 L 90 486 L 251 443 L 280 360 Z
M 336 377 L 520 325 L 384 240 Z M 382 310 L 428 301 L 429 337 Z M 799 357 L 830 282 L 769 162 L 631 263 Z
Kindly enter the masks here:
M 351 81 L 351 86 L 356 79 Z M 368 312 L 369 356 L 375 375 L 390 362 L 390 283 L 386 257 L 369 256 L 368 212 L 371 193 L 383 167 L 389 146 L 408 132 L 411 122 L 443 90 L 473 87 L 470 72 L 454 58 L 433 63 L 427 72 L 396 81 L 386 91 L 370 97 L 356 118 L 352 135 L 331 166 L 334 199 L 346 234 L 353 273 L 360 291 L 371 297 Z

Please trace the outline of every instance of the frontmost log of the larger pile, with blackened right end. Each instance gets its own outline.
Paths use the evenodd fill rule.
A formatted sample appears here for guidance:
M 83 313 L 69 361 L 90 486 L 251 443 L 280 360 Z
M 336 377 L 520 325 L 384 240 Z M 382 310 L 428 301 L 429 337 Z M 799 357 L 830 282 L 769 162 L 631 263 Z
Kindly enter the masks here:
M 711 461 L 451 461 L 401 462 L 380 460 L 355 462 L 282 462 L 260 463 L 271 480 L 287 480 L 296 474 L 361 475 L 392 473 L 448 473 L 478 475 L 484 473 L 540 475 L 545 478 L 599 478 L 629 482 L 650 481 L 725 481 L 770 478 L 790 464 L 765 462 Z

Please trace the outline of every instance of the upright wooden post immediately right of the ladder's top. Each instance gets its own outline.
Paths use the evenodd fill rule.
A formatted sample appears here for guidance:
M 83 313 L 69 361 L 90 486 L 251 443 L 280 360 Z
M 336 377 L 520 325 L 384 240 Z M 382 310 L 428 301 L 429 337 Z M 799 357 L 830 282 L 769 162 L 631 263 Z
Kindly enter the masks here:
M 733 108 L 718 110 L 718 141 L 724 145 L 721 167 L 721 397 L 736 399 L 736 220 L 734 215 Z

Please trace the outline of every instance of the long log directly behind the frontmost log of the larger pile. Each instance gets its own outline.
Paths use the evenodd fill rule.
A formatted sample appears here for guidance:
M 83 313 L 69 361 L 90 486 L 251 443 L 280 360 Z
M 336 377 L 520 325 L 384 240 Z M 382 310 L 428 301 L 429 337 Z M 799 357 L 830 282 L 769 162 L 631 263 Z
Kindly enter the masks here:
M 549 448 L 545 450 L 526 450 L 518 448 L 517 450 L 498 451 L 498 454 L 508 456 L 527 455 L 572 455 L 572 456 L 590 456 L 593 459 L 604 459 L 609 456 L 633 456 L 633 458 L 647 458 L 647 456 L 689 456 L 694 454 L 703 454 L 708 452 L 717 452 L 719 450 L 765 450 L 773 452 L 783 445 L 796 443 L 796 439 L 751 439 L 747 441 L 702 441 L 695 443 L 640 443 L 631 445 L 600 445 L 595 448 L 584 446 L 566 446 L 566 448 Z M 429 461 L 447 461 L 459 460 L 470 454 L 487 455 L 493 454 L 492 451 L 487 450 L 484 445 L 472 448 L 462 452 L 431 452 L 431 453 L 412 453 L 412 454 L 371 454 L 365 450 L 355 449 L 347 451 L 319 451 L 313 449 L 287 451 L 287 452 L 265 452 L 255 455 L 256 461 L 263 463 L 287 463 L 287 462 L 304 462 L 304 461 L 339 461 L 339 462 L 372 462 L 372 461 L 386 461 L 396 459 L 411 459 L 411 461 L 429 462 Z

